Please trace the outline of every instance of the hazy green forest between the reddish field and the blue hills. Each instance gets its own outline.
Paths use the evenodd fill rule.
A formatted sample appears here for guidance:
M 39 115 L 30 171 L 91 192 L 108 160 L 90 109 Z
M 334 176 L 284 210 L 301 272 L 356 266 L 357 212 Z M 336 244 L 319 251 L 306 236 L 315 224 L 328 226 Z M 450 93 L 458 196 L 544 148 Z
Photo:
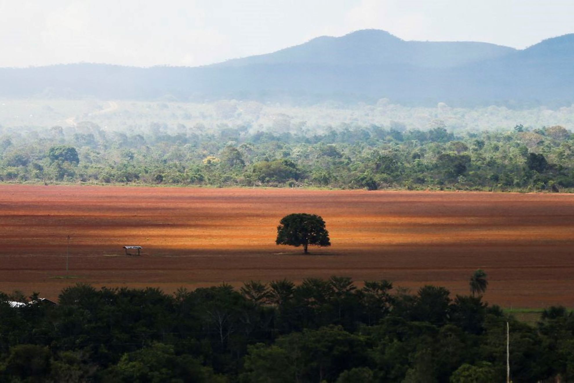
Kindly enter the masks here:
M 28 105 L 30 117 L 17 112 L 26 110 L 23 102 L 6 101 L 0 109 L 5 117 L 2 181 L 501 191 L 574 187 L 574 137 L 567 129 L 572 108 L 410 108 L 388 100 L 347 109 L 234 100 Z M 18 124 L 26 119 L 38 123 Z

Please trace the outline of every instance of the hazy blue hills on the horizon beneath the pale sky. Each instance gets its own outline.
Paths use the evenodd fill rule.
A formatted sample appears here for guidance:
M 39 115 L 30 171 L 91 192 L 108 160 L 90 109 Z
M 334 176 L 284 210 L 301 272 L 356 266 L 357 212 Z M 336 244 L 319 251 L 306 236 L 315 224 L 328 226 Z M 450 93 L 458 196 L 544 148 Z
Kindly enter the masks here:
M 519 51 L 483 42 L 404 41 L 382 30 L 360 30 L 196 68 L 105 64 L 0 68 L 0 97 L 29 96 L 294 103 L 389 98 L 407 105 L 570 105 L 574 34 Z

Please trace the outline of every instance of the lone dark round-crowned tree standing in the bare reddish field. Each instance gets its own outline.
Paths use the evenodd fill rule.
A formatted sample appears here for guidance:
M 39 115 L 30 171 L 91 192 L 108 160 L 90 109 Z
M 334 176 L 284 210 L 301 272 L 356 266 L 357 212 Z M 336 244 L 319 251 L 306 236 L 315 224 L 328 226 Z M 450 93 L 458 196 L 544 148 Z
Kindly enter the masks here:
M 296 213 L 284 216 L 277 226 L 277 245 L 303 246 L 305 254 L 307 246 L 331 246 L 329 232 L 325 229 L 325 221 L 319 215 Z

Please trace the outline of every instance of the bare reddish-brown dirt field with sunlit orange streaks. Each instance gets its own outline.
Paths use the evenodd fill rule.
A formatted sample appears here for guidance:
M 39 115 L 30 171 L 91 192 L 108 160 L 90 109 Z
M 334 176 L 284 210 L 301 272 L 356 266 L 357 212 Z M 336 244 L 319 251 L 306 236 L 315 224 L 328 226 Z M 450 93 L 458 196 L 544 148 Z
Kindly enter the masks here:
M 292 212 L 323 216 L 332 246 L 276 246 Z M 491 303 L 572 307 L 573 246 L 574 195 L 0 185 L 0 290 L 52 299 L 77 282 L 172 292 L 331 275 L 467 293 L 482 268 Z

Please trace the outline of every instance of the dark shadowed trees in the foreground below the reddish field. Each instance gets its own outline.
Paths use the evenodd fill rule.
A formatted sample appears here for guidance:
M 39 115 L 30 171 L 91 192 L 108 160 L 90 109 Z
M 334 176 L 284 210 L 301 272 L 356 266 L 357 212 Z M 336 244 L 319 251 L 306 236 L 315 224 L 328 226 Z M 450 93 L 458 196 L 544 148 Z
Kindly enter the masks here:
M 13 382 L 514 382 L 574 380 L 574 315 L 535 326 L 472 295 L 387 280 L 307 278 L 166 294 L 76 284 L 57 305 L 0 295 L 0 380 Z M 478 294 L 475 294 L 478 293 Z

